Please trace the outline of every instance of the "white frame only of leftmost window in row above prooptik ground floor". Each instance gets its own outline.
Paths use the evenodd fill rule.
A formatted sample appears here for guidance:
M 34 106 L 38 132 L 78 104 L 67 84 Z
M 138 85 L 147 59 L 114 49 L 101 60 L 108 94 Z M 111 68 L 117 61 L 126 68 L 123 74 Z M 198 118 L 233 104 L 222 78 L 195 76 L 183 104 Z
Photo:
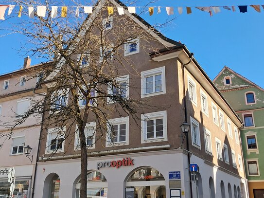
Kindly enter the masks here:
M 57 134 L 56 138 L 62 138 L 62 140 L 63 140 L 64 136 L 65 136 L 66 126 L 64 126 L 63 128 L 49 128 L 48 129 L 45 154 L 64 152 L 65 141 L 62 141 L 62 148 L 61 149 L 51 150 L 51 143 L 52 143 L 52 140 L 54 140 L 54 139 L 51 139 L 52 134 L 58 133 L 58 131 L 62 131 L 62 133 L 60 135 Z

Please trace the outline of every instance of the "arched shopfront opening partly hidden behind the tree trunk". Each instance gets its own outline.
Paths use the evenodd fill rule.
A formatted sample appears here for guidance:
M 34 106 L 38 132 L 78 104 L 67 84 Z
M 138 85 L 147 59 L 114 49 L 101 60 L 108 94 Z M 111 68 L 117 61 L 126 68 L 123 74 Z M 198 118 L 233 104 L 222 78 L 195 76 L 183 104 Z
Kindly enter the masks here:
M 76 184 L 76 198 L 80 197 L 80 180 Z M 106 177 L 98 171 L 87 174 L 87 198 L 107 198 Z

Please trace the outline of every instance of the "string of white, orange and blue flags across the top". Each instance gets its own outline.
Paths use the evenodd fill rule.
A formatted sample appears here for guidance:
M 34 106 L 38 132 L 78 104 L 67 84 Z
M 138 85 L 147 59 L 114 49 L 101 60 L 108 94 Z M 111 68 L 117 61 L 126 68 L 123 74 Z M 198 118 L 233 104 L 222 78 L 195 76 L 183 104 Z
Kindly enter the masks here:
M 8 13 L 7 15 L 10 15 L 13 11 L 13 9 L 15 8 L 15 6 L 19 6 L 19 11 L 18 11 L 18 17 L 21 17 L 21 13 L 22 10 L 24 9 L 25 6 L 22 5 L 0 5 L 0 20 L 4 20 L 4 15 L 5 15 L 5 11 L 8 8 Z M 261 6 L 264 9 L 264 5 L 249 5 L 250 7 L 254 8 L 257 12 L 261 12 Z M 93 11 L 92 6 L 51 6 L 52 10 L 51 10 L 51 18 L 56 18 L 57 17 L 57 13 L 58 13 L 58 7 L 61 8 L 61 17 L 65 18 L 67 17 L 68 14 L 68 7 L 75 7 L 76 11 L 75 11 L 75 15 L 77 17 L 79 17 L 79 12 L 80 12 L 80 8 L 83 8 L 84 13 L 86 14 L 91 14 Z M 114 7 L 106 7 L 106 6 L 97 6 L 99 8 L 107 8 L 108 11 L 108 15 L 111 15 L 114 13 Z M 161 8 L 165 8 L 166 9 L 166 13 L 167 15 L 174 15 L 174 9 L 177 8 L 178 13 L 181 15 L 183 12 L 183 8 L 186 9 L 187 14 L 191 14 L 192 13 L 192 8 L 197 8 L 201 11 L 205 11 L 210 13 L 210 16 L 212 16 L 212 11 L 216 14 L 219 13 L 221 10 L 220 8 L 224 8 L 226 10 L 231 10 L 233 12 L 236 11 L 236 8 L 239 8 L 239 11 L 241 13 L 245 13 L 247 12 L 247 7 L 248 5 L 237 5 L 237 6 L 209 6 L 209 7 L 162 7 L 162 6 L 154 6 L 154 7 L 143 7 L 143 6 L 128 6 L 127 11 L 131 14 L 136 14 L 136 8 L 148 8 L 148 12 L 149 12 L 149 16 L 152 16 L 154 14 L 155 9 L 158 10 L 157 14 L 161 13 Z M 46 16 L 46 11 L 47 11 L 48 6 L 44 6 L 44 5 L 37 5 L 36 6 L 36 13 L 34 10 L 34 6 L 28 6 L 28 17 L 29 18 L 34 18 L 35 14 L 38 17 L 45 17 Z M 123 15 L 124 14 L 124 8 L 125 7 L 117 7 L 117 11 L 119 15 Z

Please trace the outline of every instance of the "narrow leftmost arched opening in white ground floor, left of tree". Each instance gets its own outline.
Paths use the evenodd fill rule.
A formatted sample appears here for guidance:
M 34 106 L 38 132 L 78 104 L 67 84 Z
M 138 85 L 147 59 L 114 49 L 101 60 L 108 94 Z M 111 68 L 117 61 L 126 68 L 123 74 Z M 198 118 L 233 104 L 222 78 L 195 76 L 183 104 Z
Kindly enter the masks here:
M 49 174 L 44 181 L 43 198 L 59 198 L 60 177 L 55 174 Z

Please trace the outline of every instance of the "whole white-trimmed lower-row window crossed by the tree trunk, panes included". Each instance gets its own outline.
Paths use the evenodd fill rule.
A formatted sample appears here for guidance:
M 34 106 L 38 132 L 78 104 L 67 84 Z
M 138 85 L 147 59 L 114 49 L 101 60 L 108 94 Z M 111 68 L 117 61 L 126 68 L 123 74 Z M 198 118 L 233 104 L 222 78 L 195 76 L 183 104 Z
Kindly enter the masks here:
M 94 148 L 95 147 L 95 130 L 96 130 L 96 122 L 87 123 L 84 129 L 84 134 L 86 138 L 86 145 L 87 148 Z M 79 138 L 79 128 L 76 125 L 76 132 L 75 132 L 75 150 L 80 150 L 80 138 Z

